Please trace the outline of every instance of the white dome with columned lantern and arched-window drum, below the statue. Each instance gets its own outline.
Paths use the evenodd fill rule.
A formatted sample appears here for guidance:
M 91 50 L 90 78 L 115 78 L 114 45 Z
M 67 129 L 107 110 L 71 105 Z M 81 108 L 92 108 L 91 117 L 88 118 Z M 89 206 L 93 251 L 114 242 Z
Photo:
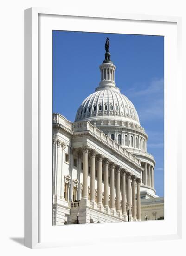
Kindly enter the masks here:
M 99 86 L 82 102 L 75 122 L 89 121 L 128 150 L 145 152 L 148 135 L 140 125 L 133 103 L 121 94 L 115 84 L 116 67 L 110 60 L 109 51 L 106 50 L 105 59 L 99 68 Z

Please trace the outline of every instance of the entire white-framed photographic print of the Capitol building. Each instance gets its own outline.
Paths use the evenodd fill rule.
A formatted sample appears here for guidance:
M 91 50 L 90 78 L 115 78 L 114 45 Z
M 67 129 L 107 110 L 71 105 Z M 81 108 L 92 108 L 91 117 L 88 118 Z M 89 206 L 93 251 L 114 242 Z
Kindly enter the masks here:
M 180 22 L 25 11 L 26 246 L 180 236 Z

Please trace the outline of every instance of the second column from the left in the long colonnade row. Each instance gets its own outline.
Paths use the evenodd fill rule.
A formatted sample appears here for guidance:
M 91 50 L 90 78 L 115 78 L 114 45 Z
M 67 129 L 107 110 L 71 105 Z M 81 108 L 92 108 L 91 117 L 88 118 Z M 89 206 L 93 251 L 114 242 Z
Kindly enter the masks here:
M 95 157 L 96 150 L 90 153 L 90 202 L 95 202 Z

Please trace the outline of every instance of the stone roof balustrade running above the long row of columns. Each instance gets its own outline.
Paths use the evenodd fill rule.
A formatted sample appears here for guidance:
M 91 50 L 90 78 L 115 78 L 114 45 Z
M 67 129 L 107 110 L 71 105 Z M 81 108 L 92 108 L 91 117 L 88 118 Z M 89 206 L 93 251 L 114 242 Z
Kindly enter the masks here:
M 82 131 L 90 131 L 94 135 L 96 135 L 99 139 L 109 144 L 112 148 L 116 149 L 123 155 L 127 156 L 132 161 L 136 162 L 141 166 L 141 161 L 135 155 L 128 152 L 125 148 L 123 148 L 121 145 L 119 145 L 116 141 L 109 138 L 108 135 L 104 134 L 102 131 L 100 131 L 96 126 L 90 124 L 88 121 L 84 122 L 75 122 L 72 123 L 72 130 L 74 132 L 82 132 Z

